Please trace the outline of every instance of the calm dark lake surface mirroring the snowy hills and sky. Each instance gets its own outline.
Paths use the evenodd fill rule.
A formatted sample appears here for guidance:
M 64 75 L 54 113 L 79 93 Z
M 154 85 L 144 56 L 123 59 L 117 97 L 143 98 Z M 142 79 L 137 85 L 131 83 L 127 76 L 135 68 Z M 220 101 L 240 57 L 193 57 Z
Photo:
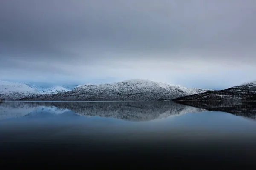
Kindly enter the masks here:
M 255 106 L 4 102 L 0 166 L 255 169 Z

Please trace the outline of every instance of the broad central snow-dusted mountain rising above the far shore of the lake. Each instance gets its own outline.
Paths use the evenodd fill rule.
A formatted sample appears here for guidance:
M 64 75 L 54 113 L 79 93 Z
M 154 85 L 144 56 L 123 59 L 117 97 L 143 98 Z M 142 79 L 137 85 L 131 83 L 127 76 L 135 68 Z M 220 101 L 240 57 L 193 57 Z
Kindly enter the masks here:
M 132 79 L 100 85 L 79 85 L 72 91 L 53 95 L 28 97 L 23 100 L 86 100 L 86 101 L 139 101 L 170 100 L 210 90 L 185 88 L 150 80 Z

